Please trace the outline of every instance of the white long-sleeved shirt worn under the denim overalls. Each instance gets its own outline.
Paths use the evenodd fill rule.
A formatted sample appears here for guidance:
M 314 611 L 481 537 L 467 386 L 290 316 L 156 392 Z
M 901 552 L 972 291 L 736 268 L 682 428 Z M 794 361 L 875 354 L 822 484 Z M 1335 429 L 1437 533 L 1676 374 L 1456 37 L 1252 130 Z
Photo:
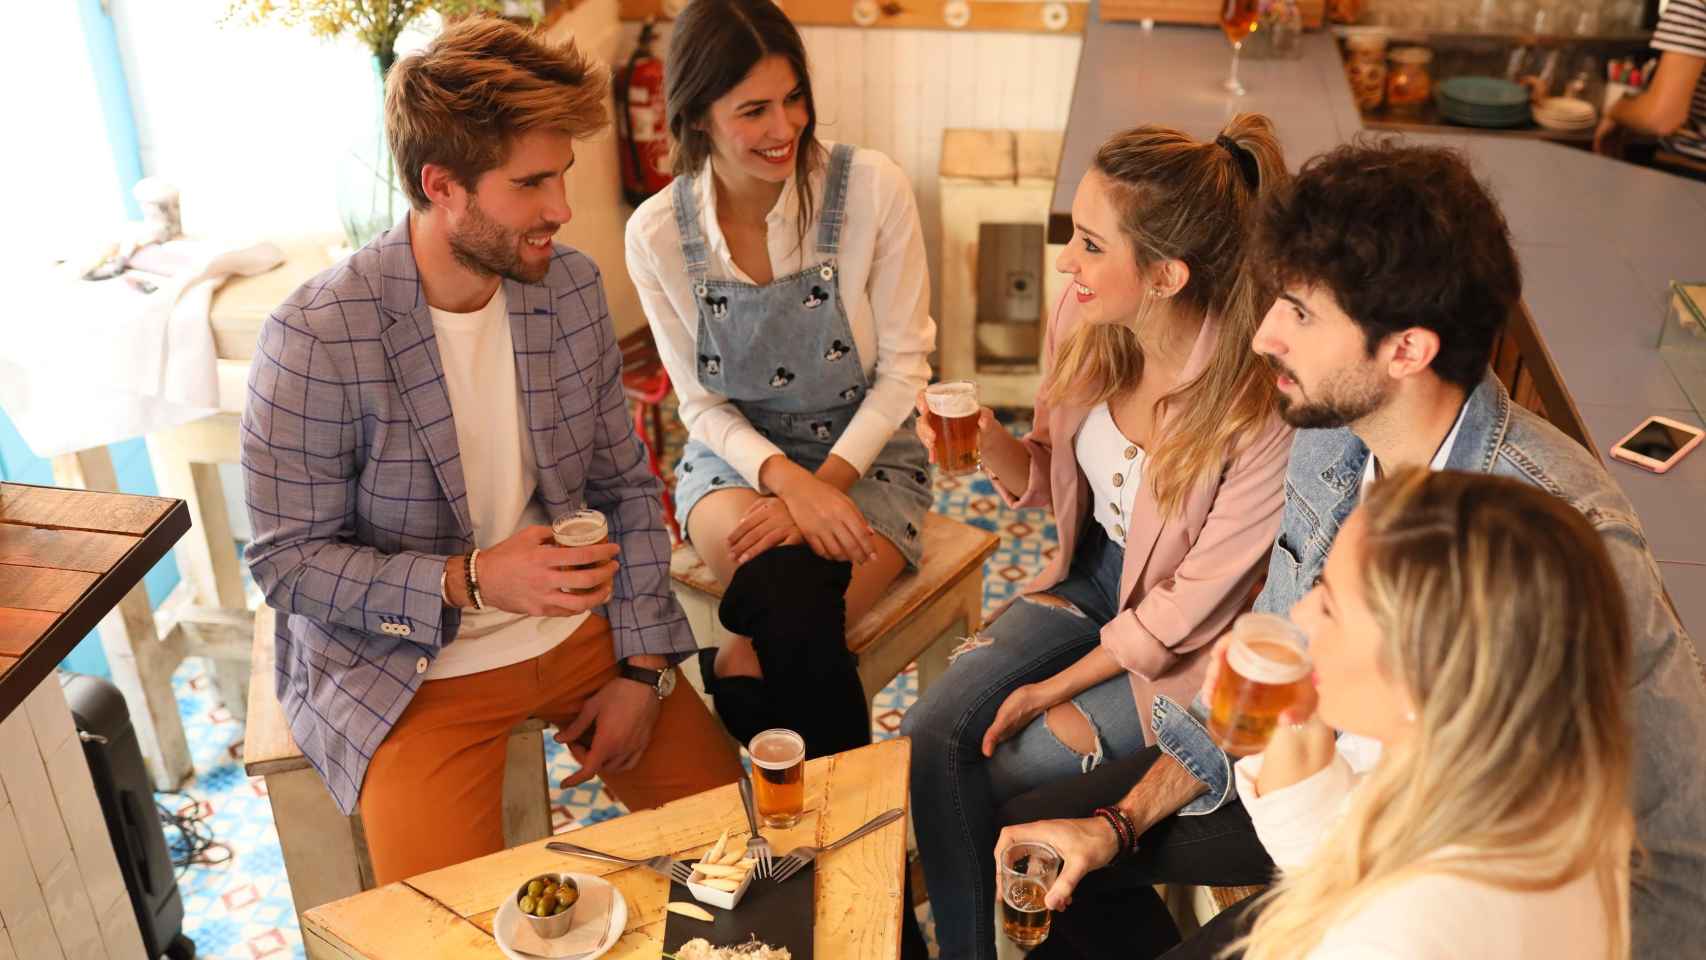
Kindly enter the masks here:
M 827 177 L 827 150 L 833 147 L 824 143 L 826 162 L 812 174 L 812 201 L 819 215 Z M 717 188 L 710 164 L 696 177 L 694 189 L 706 240 L 708 278 L 752 283 L 752 278 L 735 266 L 715 215 Z M 766 459 L 781 450 L 759 435 L 728 397 L 699 384 L 694 360 L 699 331 L 698 298 L 681 252 L 672 193 L 674 189 L 664 189 L 652 196 L 628 220 L 628 275 L 633 276 L 664 368 L 669 370 L 676 396 L 681 399 L 681 421 L 688 428 L 688 437 L 705 443 L 740 471 L 754 489 L 763 489 L 757 471 Z M 766 217 L 769 268 L 778 278 L 822 259 L 817 252 L 819 217 L 814 217 L 805 242 L 798 242 L 798 203 L 795 179 L 788 177 Z M 853 327 L 853 343 L 872 385 L 831 454 L 863 474 L 913 411 L 918 390 L 930 382 L 930 351 L 937 343 L 937 324 L 930 317 L 925 234 L 918 223 L 913 188 L 894 160 L 875 150 L 862 148 L 853 153 L 836 268 L 841 302 Z M 807 322 L 807 317 L 810 315 L 804 315 L 802 322 Z

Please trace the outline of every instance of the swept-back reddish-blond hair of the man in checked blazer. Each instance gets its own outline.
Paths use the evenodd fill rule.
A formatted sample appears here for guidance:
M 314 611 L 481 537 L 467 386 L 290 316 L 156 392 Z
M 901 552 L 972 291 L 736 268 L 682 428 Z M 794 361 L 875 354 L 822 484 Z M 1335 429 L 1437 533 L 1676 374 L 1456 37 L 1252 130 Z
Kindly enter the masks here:
M 474 189 L 522 133 L 599 133 L 609 123 L 607 92 L 607 70 L 573 41 L 548 43 L 496 17 L 457 22 L 386 75 L 386 138 L 409 203 L 432 208 L 421 188 L 426 164 Z

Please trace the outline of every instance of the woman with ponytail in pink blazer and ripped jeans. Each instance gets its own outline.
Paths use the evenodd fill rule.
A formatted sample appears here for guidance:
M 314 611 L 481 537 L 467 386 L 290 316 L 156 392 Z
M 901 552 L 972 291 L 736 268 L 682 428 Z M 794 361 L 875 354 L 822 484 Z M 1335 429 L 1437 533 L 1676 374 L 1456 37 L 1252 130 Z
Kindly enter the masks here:
M 995 955 L 996 807 L 1152 743 L 1152 701 L 1191 701 L 1254 593 L 1291 437 L 1244 237 L 1278 177 L 1273 126 L 1240 114 L 1211 142 L 1119 133 L 1078 184 L 1032 431 L 981 419 L 984 472 L 1054 512 L 1059 552 L 901 726 L 943 960 Z

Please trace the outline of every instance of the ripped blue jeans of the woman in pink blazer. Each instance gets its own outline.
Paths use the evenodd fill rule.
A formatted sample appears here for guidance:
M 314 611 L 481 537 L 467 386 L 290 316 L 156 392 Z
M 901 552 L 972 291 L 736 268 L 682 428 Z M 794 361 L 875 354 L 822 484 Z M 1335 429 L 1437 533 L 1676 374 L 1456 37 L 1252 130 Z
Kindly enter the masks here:
M 1066 604 L 1015 600 L 962 645 L 901 721 L 901 733 L 913 738 L 913 825 L 942 960 L 995 957 L 996 807 L 1145 747 L 1143 716 L 1121 674 L 1071 701 L 1095 732 L 1094 754 L 1061 743 L 1039 716 L 993 757 L 983 755 L 983 735 L 1008 694 L 1059 674 L 1100 643 L 1123 563 L 1124 549 L 1090 523 L 1071 573 L 1047 592 Z

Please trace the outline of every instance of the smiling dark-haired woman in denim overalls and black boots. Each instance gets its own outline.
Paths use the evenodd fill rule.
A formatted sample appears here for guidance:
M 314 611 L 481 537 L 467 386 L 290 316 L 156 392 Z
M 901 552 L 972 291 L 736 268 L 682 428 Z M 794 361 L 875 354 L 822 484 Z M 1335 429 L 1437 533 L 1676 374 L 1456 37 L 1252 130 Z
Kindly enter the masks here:
M 822 145 L 805 55 L 769 0 L 696 0 L 669 55 L 674 184 L 635 211 L 628 266 L 681 397 L 676 510 L 727 585 L 737 639 L 701 655 L 737 738 L 809 755 L 870 740 L 844 624 L 921 556 L 911 431 L 935 324 L 911 188 Z

